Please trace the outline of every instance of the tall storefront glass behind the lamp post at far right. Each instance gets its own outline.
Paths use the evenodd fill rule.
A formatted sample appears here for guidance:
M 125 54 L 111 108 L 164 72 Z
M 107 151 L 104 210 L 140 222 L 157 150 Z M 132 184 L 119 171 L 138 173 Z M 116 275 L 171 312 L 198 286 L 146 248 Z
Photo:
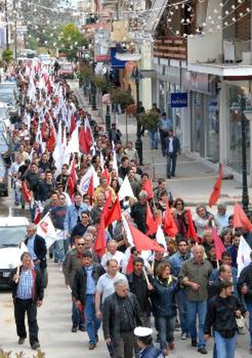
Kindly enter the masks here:
M 229 140 L 229 155 L 227 164 L 235 171 L 242 172 L 242 142 L 241 142 L 241 112 L 239 109 L 239 95 L 240 88 L 231 86 L 229 88 L 230 98 L 230 140 Z M 247 155 L 247 172 L 250 167 L 250 138 L 249 138 L 249 123 L 246 120 L 246 155 Z

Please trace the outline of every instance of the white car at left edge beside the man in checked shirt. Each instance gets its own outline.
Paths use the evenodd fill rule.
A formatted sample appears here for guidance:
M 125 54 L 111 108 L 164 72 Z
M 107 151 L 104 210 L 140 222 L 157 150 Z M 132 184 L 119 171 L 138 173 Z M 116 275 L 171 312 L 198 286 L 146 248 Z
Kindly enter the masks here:
M 0 288 L 10 287 L 11 272 L 21 264 L 22 253 L 28 251 L 24 244 L 28 224 L 25 217 L 0 218 Z

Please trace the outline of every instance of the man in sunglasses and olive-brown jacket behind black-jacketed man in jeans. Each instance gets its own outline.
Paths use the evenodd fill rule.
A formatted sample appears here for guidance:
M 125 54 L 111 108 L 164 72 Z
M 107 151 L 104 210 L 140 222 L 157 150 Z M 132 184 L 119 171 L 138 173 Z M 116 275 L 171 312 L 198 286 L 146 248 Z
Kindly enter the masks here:
M 74 248 L 69 251 L 66 255 L 64 261 L 64 275 L 66 286 L 69 290 L 73 285 L 75 272 L 82 267 L 82 253 L 85 248 L 85 240 L 81 236 L 75 236 L 74 238 Z M 73 308 L 72 308 L 72 332 L 76 333 L 78 327 L 80 331 L 85 331 L 84 320 L 82 318 L 81 312 L 78 310 L 73 300 Z

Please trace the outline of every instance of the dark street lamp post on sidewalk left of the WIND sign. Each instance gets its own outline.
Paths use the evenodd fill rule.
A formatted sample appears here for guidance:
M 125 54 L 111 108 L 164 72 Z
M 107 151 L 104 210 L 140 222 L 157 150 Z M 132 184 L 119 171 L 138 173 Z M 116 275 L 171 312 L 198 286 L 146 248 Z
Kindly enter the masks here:
M 141 128 L 142 124 L 140 122 L 140 95 L 139 95 L 139 81 L 143 78 L 138 67 L 135 67 L 131 75 L 136 83 L 136 95 L 137 95 L 137 140 L 136 140 L 136 150 L 138 152 L 139 164 L 143 165 L 143 142 L 141 138 Z

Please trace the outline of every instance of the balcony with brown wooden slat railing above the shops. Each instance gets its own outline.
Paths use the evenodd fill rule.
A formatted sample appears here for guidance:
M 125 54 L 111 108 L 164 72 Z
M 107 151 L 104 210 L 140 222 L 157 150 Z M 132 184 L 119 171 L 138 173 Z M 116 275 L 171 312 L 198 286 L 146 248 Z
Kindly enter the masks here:
M 156 38 L 153 47 L 153 55 L 158 58 L 186 60 L 186 40 L 176 36 L 164 36 Z

